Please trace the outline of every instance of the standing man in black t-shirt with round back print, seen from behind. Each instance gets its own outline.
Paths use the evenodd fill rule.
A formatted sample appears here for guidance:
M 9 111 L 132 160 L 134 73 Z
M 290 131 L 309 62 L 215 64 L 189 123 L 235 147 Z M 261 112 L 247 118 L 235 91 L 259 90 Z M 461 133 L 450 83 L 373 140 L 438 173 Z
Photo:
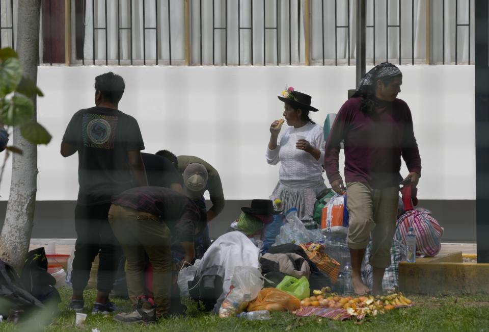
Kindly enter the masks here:
M 148 185 L 140 152 L 144 143 L 138 122 L 117 109 L 124 88 L 122 77 L 113 72 L 97 76 L 96 106 L 73 115 L 61 143 L 63 157 L 78 152 L 77 239 L 70 303 L 70 309 L 76 312 L 83 311 L 83 291 L 97 254 L 98 293 L 93 313 L 115 310 L 108 294 L 114 284 L 122 250 L 108 223 L 108 210 L 113 195 Z

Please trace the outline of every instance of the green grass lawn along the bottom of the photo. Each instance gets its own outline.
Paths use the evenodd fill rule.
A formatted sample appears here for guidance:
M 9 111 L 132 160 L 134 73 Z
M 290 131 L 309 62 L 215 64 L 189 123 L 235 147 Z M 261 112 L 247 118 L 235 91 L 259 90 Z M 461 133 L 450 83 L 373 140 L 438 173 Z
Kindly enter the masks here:
M 75 314 L 68 311 L 71 291 L 60 290 L 60 312 L 47 326 L 40 326 L 42 318 L 29 325 L 0 323 L 0 331 L 487 331 L 489 332 L 489 295 L 454 296 L 409 296 L 416 302 L 412 308 L 393 310 L 385 315 L 363 321 L 336 322 L 319 317 L 296 317 L 290 313 L 273 313 L 268 321 L 247 321 L 240 318 L 220 319 L 218 316 L 197 311 L 191 302 L 188 316 L 159 321 L 149 326 L 122 324 L 113 320 L 113 315 L 90 315 L 95 291 L 86 292 L 86 313 L 89 314 L 83 327 L 74 325 Z M 115 299 L 122 310 L 130 309 L 128 300 Z

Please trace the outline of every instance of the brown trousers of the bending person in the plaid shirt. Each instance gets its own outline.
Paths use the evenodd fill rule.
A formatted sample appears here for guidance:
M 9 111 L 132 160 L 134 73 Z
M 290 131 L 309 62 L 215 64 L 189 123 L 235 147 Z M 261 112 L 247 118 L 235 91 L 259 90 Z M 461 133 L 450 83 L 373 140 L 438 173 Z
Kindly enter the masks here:
M 127 262 L 127 290 L 132 304 L 144 295 L 144 253 L 153 267 L 153 294 L 158 317 L 170 310 L 172 282 L 171 234 L 167 225 L 150 213 L 112 205 L 108 220 Z

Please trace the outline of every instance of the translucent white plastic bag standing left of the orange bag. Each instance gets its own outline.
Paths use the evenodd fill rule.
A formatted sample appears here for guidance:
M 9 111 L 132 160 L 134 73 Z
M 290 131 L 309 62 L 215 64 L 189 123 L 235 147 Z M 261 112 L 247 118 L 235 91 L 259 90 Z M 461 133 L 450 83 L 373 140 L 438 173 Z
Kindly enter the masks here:
M 226 295 L 219 317 L 233 317 L 246 309 L 248 302 L 253 301 L 263 288 L 260 271 L 251 266 L 236 266 L 231 278 L 231 290 Z

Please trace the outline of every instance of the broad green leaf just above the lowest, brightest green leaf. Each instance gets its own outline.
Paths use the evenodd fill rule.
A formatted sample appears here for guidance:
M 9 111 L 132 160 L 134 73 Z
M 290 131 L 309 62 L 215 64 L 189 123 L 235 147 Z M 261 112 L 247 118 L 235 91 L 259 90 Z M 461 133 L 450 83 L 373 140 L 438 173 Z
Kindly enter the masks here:
M 28 97 L 14 95 L 10 100 L 0 103 L 0 115 L 6 125 L 22 125 L 32 120 L 34 104 Z

